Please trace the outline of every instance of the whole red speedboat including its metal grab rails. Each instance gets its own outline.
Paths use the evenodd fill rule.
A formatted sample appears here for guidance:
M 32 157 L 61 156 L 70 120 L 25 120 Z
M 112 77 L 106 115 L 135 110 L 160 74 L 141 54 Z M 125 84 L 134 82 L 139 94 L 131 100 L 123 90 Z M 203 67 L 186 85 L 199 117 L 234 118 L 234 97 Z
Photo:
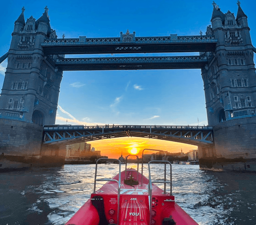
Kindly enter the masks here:
M 154 149 L 144 149 L 161 151 Z M 143 150 L 143 152 L 144 152 Z M 141 173 L 139 158 L 136 169 L 127 168 L 121 172 L 118 159 L 108 159 L 119 163 L 119 174 L 111 179 L 97 179 L 96 162 L 94 192 L 91 198 L 74 214 L 66 225 L 198 225 L 179 205 L 172 195 L 172 167 L 169 161 L 152 160 L 148 163 L 149 178 L 143 176 L 143 152 Z M 164 164 L 163 181 L 152 181 L 150 165 Z M 170 165 L 170 179 L 166 179 L 166 164 Z M 95 190 L 97 181 L 107 181 L 99 190 Z M 155 183 L 164 183 L 164 190 Z M 166 192 L 170 184 L 170 192 Z

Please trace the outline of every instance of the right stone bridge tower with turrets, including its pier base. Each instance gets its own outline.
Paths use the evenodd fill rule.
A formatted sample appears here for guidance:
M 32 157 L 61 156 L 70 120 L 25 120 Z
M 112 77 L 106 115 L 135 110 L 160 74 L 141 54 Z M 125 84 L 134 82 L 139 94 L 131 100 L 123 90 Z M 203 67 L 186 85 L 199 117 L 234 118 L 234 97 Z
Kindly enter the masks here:
M 208 58 L 201 72 L 208 123 L 214 126 L 215 147 L 203 148 L 200 156 L 200 164 L 208 168 L 244 170 L 256 158 L 255 48 L 247 16 L 239 1 L 237 5 L 235 17 L 230 11 L 221 12 L 213 2 L 212 27 L 207 27 L 206 35 L 218 40 L 216 50 L 200 53 Z

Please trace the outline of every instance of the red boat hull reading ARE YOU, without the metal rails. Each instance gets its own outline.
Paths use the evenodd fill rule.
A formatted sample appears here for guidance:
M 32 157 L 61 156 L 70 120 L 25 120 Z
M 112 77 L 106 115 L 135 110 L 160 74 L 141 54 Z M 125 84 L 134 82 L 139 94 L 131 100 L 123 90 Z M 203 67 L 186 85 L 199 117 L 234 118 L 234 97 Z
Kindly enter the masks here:
M 148 179 L 143 176 L 142 185 L 124 183 L 132 175 L 134 180 L 141 181 L 141 173 L 129 171 L 125 178 L 125 171 L 121 172 L 120 211 L 118 225 L 198 225 L 177 203 L 174 196 L 163 193 L 163 190 L 152 184 L 152 215 L 150 218 Z M 119 174 L 112 179 L 118 180 Z M 98 191 L 91 194 L 91 198 L 75 213 L 66 225 L 99 225 L 117 224 L 118 212 L 118 183 L 108 181 Z M 95 202 L 102 205 L 96 207 Z M 101 208 L 102 210 L 100 211 Z M 171 216 L 171 218 L 170 218 Z M 104 217 L 104 218 L 103 218 Z M 150 222 L 151 220 L 151 222 Z M 167 221 L 164 222 L 163 221 Z

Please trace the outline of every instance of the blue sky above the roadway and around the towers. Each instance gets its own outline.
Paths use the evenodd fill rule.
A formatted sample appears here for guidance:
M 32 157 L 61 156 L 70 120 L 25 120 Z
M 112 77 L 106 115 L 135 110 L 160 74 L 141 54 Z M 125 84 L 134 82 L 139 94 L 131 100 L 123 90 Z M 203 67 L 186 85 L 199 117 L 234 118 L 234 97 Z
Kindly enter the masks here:
M 221 11 L 236 16 L 237 1 L 216 1 Z M 47 5 L 51 28 L 61 38 L 199 35 L 211 24 L 212 1 L 4 1 L 1 3 L 0 55 L 8 52 L 14 21 L 25 7 L 25 20 L 38 19 Z M 256 2 L 241 1 L 248 16 L 251 38 L 256 46 Z M 159 55 L 188 55 L 170 53 Z M 190 53 L 198 55 L 198 53 Z M 152 56 L 153 54 L 139 54 Z M 95 55 L 93 55 L 95 57 Z M 113 57 L 110 54 L 101 55 Z M 117 55 L 114 57 L 125 56 Z M 72 55 L 66 57 L 89 57 Z M 0 65 L 3 86 L 7 61 Z M 207 124 L 205 96 L 200 69 L 66 71 L 63 73 L 57 124 Z

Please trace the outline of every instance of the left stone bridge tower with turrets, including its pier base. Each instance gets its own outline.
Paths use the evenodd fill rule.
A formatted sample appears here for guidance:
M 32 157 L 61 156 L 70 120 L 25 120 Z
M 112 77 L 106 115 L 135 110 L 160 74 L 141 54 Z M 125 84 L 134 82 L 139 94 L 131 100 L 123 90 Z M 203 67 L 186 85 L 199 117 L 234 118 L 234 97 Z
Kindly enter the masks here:
M 64 164 L 58 147 L 41 148 L 43 125 L 55 123 L 62 78 L 57 56 L 44 55 L 41 43 L 57 38 L 56 32 L 47 7 L 38 20 L 26 22 L 24 10 L 14 23 L 0 97 L 0 170 Z

